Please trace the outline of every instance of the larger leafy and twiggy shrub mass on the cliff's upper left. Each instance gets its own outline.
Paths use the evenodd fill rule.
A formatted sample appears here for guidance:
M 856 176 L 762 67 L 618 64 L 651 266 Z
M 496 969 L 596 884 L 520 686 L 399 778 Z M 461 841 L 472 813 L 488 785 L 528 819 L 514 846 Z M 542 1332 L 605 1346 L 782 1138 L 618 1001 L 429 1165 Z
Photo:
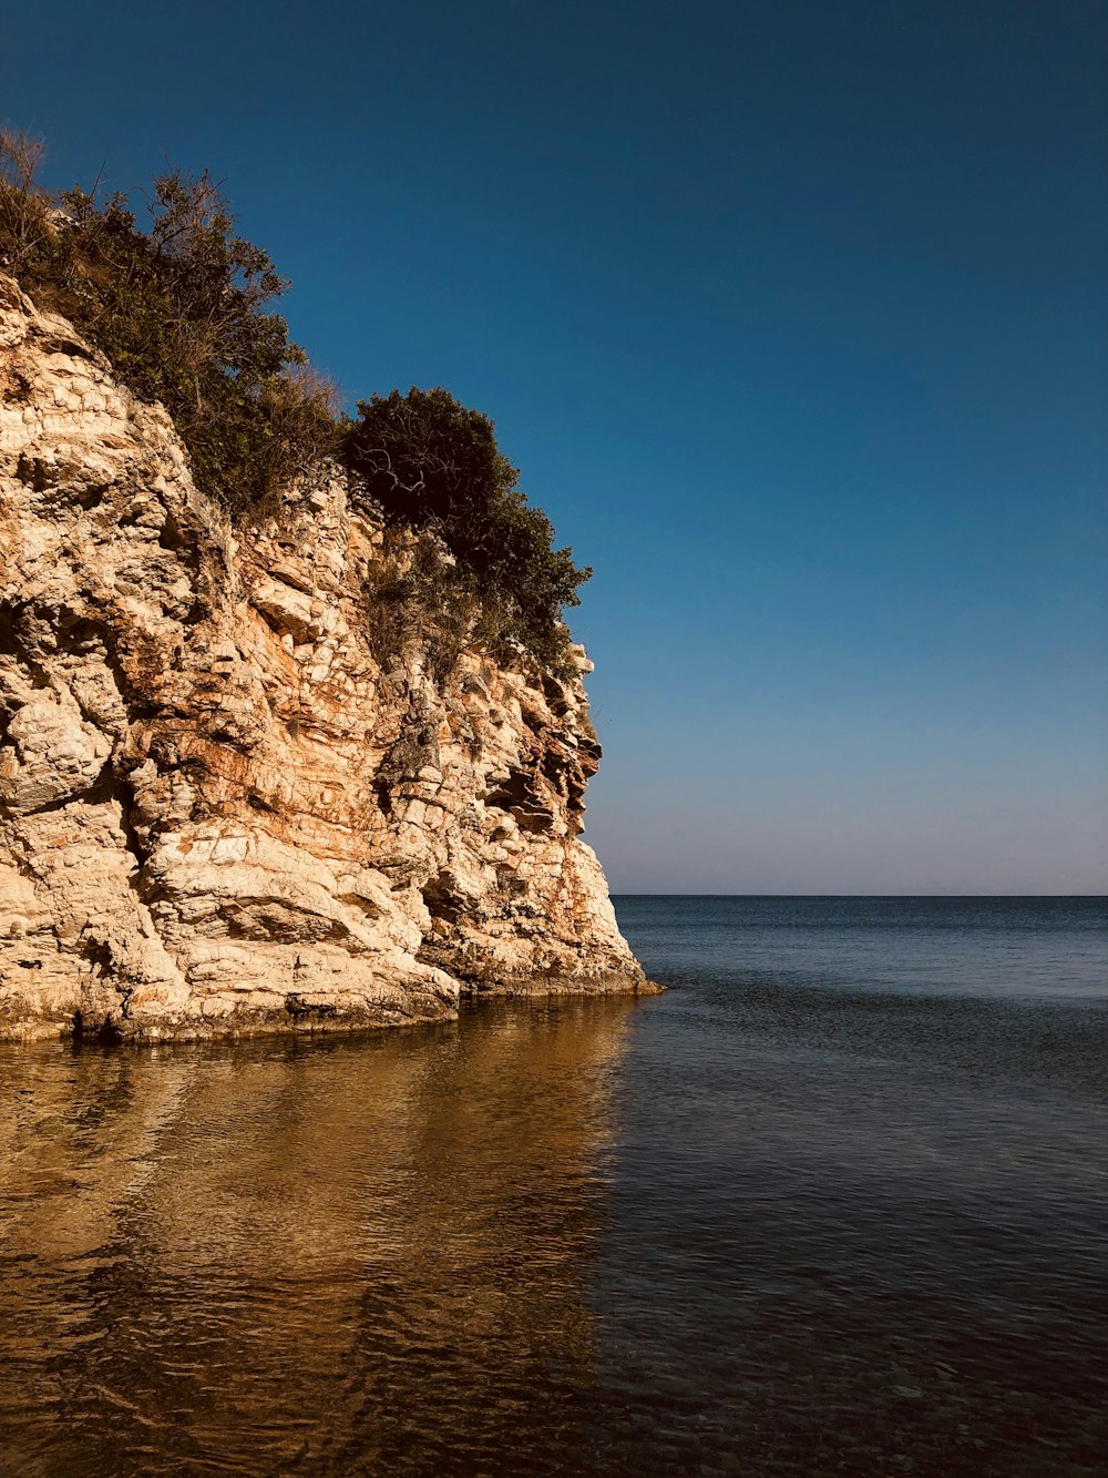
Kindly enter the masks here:
M 272 511 L 338 437 L 331 389 L 266 310 L 288 284 L 235 235 L 207 174 L 155 179 L 140 229 L 123 195 L 41 191 L 38 152 L 0 136 L 0 268 L 65 313 L 139 399 L 163 402 L 198 486 L 239 517 Z

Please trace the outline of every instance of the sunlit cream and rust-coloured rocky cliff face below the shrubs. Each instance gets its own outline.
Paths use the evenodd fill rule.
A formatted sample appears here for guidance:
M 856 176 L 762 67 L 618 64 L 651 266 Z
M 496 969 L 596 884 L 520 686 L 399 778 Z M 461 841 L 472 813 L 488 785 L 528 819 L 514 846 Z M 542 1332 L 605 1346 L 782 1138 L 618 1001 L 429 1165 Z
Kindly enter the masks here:
M 649 989 L 578 835 L 579 678 L 383 667 L 343 477 L 232 532 L 165 412 L 6 278 L 0 398 L 0 1036 Z

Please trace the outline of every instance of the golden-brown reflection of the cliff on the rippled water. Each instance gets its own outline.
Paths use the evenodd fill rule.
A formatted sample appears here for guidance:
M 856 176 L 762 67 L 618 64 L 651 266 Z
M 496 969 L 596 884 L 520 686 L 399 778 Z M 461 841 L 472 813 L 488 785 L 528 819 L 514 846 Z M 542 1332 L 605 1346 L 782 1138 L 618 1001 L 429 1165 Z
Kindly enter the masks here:
M 0 1463 L 539 1465 L 591 1382 L 584 1278 L 634 1009 L 4 1052 Z

